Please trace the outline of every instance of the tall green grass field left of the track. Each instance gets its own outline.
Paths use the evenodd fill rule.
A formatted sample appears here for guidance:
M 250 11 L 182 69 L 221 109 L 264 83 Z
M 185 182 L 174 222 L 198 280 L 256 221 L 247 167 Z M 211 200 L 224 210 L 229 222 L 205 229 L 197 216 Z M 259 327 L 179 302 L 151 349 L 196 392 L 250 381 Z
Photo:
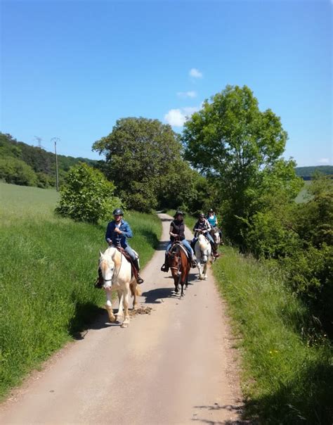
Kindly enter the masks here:
M 106 223 L 57 217 L 57 200 L 51 189 L 0 183 L 0 397 L 89 324 L 105 302 L 93 281 Z M 132 212 L 125 218 L 144 266 L 161 222 Z

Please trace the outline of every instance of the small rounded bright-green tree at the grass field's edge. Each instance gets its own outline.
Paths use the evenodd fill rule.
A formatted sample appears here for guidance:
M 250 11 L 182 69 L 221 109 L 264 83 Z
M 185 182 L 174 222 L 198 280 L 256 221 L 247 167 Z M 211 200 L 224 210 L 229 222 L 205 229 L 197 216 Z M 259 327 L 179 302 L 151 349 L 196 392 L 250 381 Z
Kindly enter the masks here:
M 112 210 L 122 201 L 115 197 L 115 185 L 104 175 L 85 163 L 70 169 L 66 185 L 60 190 L 60 201 L 56 213 L 63 217 L 89 223 L 110 217 Z

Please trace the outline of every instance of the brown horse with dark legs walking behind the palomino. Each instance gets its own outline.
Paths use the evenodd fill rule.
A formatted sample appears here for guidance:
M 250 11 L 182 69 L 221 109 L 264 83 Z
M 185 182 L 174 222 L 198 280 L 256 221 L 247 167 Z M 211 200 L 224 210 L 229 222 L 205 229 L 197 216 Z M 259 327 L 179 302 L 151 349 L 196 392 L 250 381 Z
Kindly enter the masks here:
M 178 286 L 181 284 L 181 297 L 184 295 L 184 285 L 188 287 L 188 273 L 190 272 L 190 260 L 186 254 L 186 249 L 179 242 L 171 246 L 168 255 L 169 268 L 174 278 L 175 292 L 178 293 Z

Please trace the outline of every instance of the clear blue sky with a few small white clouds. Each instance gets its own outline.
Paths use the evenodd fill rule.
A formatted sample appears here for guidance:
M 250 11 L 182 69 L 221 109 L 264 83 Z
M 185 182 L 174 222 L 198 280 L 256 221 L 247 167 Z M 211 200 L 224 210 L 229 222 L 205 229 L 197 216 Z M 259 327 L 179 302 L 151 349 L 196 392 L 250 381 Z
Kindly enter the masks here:
M 181 132 L 247 84 L 289 134 L 285 157 L 332 164 L 332 1 L 1 1 L 1 132 L 98 158 L 118 118 Z

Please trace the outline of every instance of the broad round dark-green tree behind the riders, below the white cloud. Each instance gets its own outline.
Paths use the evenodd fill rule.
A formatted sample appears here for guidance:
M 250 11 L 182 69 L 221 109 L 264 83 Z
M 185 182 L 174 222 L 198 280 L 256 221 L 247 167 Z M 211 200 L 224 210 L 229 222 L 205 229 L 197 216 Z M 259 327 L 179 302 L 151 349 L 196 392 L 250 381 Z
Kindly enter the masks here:
M 170 200 L 181 203 L 178 188 L 182 193 L 192 190 L 180 137 L 159 120 L 117 120 L 112 132 L 93 144 L 93 150 L 105 154 L 103 172 L 115 182 L 128 208 L 148 212 Z

